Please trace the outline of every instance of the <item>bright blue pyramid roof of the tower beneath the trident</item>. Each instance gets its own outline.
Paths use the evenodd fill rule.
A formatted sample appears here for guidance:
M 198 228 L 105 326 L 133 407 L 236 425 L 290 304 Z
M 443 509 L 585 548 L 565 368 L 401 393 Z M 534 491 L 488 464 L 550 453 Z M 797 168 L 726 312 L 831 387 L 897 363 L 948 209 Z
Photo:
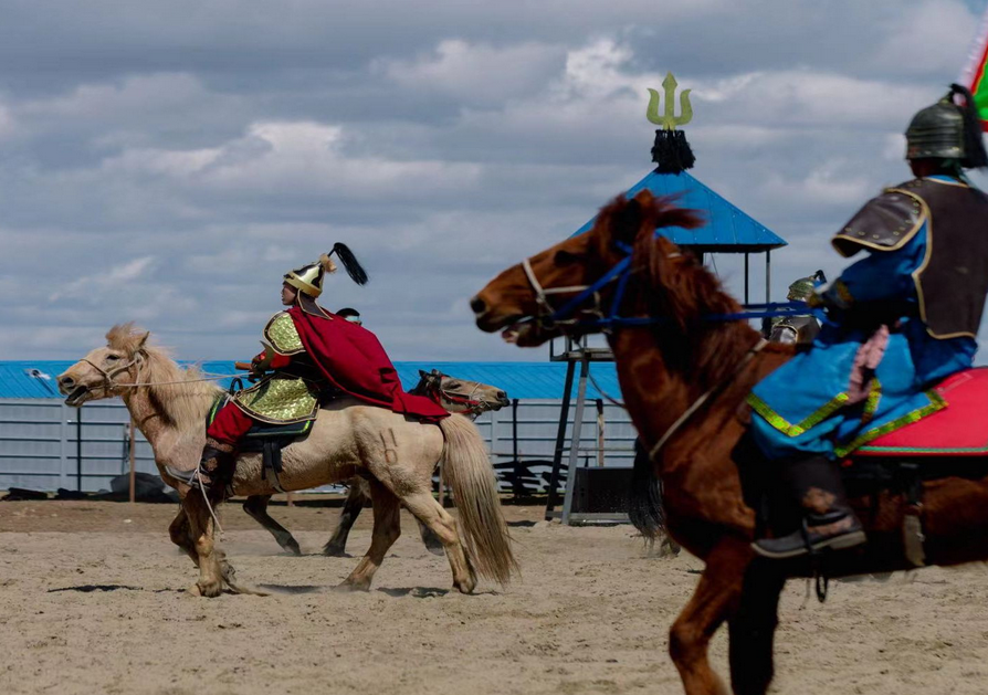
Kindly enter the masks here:
M 632 186 L 629 198 L 642 190 L 655 196 L 679 196 L 684 208 L 700 210 L 706 225 L 696 230 L 669 228 L 663 234 L 677 244 L 696 246 L 701 251 L 726 253 L 758 253 L 787 245 L 786 240 L 728 202 L 723 196 L 690 173 L 655 173 L 652 171 Z M 589 231 L 597 218 L 574 232 L 574 236 Z

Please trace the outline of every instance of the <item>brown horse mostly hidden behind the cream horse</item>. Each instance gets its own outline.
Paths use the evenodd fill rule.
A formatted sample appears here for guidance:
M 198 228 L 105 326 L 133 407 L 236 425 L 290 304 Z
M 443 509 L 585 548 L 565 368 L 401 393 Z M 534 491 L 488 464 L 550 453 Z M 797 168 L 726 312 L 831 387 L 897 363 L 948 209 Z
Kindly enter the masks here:
M 480 381 L 458 379 L 442 373 L 438 369 L 432 371 L 419 370 L 419 382 L 409 393 L 425 396 L 445 408 L 450 412 L 466 415 L 471 420 L 488 410 L 501 410 L 511 401 L 507 393 L 494 386 L 487 386 Z M 350 529 L 360 516 L 364 505 L 370 502 L 370 485 L 359 475 L 355 475 L 347 485 L 350 491 L 347 494 L 343 510 L 339 513 L 339 522 L 333 537 L 323 546 L 323 552 L 329 557 L 346 557 L 347 538 Z M 267 514 L 267 505 L 271 495 L 251 495 L 243 503 L 243 510 L 253 517 L 261 526 L 266 528 L 284 550 L 294 555 L 302 555 L 298 541 L 284 526 L 275 522 Z M 422 543 L 430 552 L 442 555 L 442 541 L 427 526 L 419 523 L 419 531 Z

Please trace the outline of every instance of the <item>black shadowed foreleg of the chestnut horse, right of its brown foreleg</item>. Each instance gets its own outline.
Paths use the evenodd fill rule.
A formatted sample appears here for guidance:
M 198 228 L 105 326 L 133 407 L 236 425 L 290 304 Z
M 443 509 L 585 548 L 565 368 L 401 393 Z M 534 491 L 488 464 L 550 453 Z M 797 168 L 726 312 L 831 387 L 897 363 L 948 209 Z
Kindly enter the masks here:
M 772 639 L 778 625 L 782 572 L 755 560 L 745 572 L 740 601 L 728 620 L 731 685 L 735 695 L 764 695 L 771 683 Z

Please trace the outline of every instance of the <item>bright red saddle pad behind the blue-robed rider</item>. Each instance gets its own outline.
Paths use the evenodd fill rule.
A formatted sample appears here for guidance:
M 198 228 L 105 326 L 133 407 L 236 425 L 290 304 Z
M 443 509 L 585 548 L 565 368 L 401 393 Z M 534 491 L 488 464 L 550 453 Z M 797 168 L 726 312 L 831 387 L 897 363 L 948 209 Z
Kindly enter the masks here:
M 988 368 L 959 371 L 935 390 L 947 408 L 880 436 L 852 455 L 988 455 Z

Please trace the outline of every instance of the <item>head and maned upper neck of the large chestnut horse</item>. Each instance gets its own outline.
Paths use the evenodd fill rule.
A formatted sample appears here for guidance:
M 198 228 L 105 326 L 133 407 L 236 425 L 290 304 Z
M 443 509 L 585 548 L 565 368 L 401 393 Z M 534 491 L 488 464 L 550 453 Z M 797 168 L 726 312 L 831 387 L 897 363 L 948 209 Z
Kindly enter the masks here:
M 586 333 L 579 319 L 599 316 L 602 307 L 610 306 L 617 283 L 606 285 L 596 297 L 576 307 L 570 319 L 577 320 L 567 324 L 550 317 L 626 257 L 628 248 L 633 248 L 634 288 L 629 283 L 627 305 L 621 307 L 624 316 L 663 315 L 685 327 L 701 308 L 732 310 L 737 305 L 726 298 L 716 278 L 692 254 L 680 253 L 671 241 L 655 235 L 655 230 L 663 227 L 694 229 L 701 224 L 695 211 L 679 208 L 669 198 L 655 198 L 648 190 L 631 199 L 619 196 L 601 209 L 589 232 L 532 256 L 528 270 L 523 262 L 487 283 L 471 301 L 477 327 L 488 333 L 504 329 L 505 339 L 519 346 Z M 679 301 L 668 297 L 671 293 Z M 663 306 L 647 307 L 645 302 Z

